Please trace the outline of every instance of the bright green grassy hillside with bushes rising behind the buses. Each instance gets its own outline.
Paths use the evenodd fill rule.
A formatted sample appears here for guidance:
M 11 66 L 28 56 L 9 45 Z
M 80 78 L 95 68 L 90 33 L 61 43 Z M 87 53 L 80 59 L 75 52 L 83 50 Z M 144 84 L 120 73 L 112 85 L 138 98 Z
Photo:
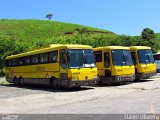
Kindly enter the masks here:
M 109 45 L 116 34 L 83 25 L 49 20 L 0 20 L 0 68 L 6 56 L 48 44 Z M 106 42 L 107 41 L 107 42 Z

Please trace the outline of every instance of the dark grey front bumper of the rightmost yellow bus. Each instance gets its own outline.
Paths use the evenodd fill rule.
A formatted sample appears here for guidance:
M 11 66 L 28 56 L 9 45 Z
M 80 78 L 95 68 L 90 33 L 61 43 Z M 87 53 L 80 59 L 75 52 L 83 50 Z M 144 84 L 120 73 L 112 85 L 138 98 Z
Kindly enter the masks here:
M 150 78 L 152 76 L 155 76 L 156 75 L 156 71 L 154 72 L 150 72 L 150 73 L 138 73 L 136 74 L 136 79 L 147 79 L 147 78 Z

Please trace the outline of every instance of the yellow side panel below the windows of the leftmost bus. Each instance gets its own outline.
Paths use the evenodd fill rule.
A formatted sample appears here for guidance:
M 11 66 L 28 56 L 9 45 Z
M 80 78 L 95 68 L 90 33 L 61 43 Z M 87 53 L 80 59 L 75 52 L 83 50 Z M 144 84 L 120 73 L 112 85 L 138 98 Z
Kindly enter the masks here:
M 59 78 L 59 63 L 6 68 L 6 77 L 13 79 L 14 76 L 17 78 L 20 76 L 23 78 Z

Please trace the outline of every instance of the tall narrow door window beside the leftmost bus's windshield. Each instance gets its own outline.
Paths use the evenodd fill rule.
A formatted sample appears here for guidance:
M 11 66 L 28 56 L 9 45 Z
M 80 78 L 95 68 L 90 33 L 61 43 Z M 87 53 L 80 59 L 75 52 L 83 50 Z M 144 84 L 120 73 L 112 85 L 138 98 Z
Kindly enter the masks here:
M 66 65 L 66 51 L 65 50 L 60 51 L 60 64 L 61 64 L 61 67 L 63 69 L 67 68 L 67 65 Z

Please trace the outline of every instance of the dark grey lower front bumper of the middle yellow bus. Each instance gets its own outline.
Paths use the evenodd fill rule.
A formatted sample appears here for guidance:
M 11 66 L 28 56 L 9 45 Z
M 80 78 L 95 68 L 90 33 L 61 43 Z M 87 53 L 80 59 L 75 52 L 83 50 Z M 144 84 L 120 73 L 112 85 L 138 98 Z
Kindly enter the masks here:
M 135 75 L 128 76 L 112 76 L 112 77 L 101 77 L 100 83 L 118 83 L 118 82 L 131 82 L 134 81 Z

